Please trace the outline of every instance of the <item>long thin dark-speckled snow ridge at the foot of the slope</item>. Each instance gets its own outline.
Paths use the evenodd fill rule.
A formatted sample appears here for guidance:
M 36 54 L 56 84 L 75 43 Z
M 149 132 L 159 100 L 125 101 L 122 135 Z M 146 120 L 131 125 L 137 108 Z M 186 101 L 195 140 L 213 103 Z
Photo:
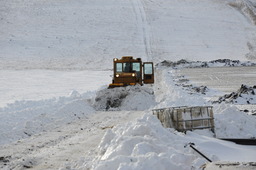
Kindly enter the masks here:
M 187 60 L 179 60 L 179 61 L 167 61 L 164 60 L 161 63 L 158 63 L 157 66 L 165 66 L 172 68 L 198 68 L 198 67 L 223 67 L 223 66 L 255 66 L 256 63 L 247 61 L 241 62 L 239 60 L 230 60 L 230 59 L 218 59 L 212 61 L 187 61 Z

